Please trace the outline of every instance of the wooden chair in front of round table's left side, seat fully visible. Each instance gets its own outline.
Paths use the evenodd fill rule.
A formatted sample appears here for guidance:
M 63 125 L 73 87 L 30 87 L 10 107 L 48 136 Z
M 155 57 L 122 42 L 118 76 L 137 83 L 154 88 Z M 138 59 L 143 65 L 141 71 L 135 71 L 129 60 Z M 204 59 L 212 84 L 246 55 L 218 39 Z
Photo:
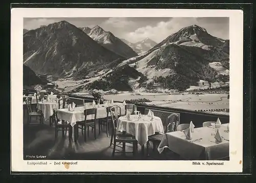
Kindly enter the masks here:
M 111 108 L 111 118 L 112 118 L 112 131 L 113 131 L 113 139 L 114 139 L 114 148 L 112 152 L 112 156 L 115 156 L 115 153 L 133 153 L 137 154 L 138 142 L 135 139 L 134 135 L 131 134 L 117 134 L 117 120 L 119 118 L 117 107 L 113 106 Z M 133 144 L 133 152 L 125 152 L 125 146 L 118 146 L 116 143 L 131 143 Z M 122 148 L 122 152 L 116 152 L 116 146 Z

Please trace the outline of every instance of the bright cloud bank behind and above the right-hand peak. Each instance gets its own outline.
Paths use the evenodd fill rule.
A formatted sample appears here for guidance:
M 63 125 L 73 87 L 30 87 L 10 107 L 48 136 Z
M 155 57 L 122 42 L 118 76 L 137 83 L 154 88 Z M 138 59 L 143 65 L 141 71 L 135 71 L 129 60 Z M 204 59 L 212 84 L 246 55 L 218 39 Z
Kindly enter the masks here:
M 126 33 L 123 37 L 131 42 L 140 41 L 146 37 L 151 38 L 156 42 L 161 42 L 163 39 L 169 35 L 179 31 L 180 29 L 191 26 L 198 25 L 205 28 L 208 33 L 217 37 L 228 37 L 226 27 L 228 24 L 226 22 L 220 22 L 220 24 L 212 23 L 207 21 L 207 18 L 196 18 L 196 17 L 174 17 L 169 21 L 160 21 L 156 26 L 144 26 L 136 29 L 133 32 Z M 226 27 L 223 27 L 225 25 Z

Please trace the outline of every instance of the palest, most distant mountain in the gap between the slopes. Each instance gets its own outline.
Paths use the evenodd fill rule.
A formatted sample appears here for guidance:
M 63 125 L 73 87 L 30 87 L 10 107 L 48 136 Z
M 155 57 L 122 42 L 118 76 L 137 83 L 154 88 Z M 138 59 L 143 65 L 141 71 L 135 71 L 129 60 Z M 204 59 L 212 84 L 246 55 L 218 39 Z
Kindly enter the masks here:
M 157 43 L 150 38 L 145 38 L 142 41 L 131 43 L 125 39 L 121 39 L 125 44 L 129 45 L 137 54 L 141 55 L 151 48 L 153 48 Z

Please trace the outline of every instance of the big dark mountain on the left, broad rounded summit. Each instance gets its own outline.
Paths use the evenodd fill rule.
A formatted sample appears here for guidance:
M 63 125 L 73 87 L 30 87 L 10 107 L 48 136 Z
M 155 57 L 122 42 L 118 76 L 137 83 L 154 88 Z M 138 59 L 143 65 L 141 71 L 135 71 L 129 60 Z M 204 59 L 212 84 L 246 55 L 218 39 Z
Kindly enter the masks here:
M 67 21 L 31 30 L 23 39 L 24 64 L 37 74 L 87 75 L 97 66 L 123 59 Z

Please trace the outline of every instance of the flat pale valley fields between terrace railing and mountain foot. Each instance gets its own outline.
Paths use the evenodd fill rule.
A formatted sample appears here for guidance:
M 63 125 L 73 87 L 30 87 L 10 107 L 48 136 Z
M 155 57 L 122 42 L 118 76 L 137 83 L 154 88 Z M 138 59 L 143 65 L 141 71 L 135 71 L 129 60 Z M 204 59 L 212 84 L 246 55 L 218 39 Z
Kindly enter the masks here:
M 74 95 L 88 96 L 89 93 L 75 93 Z M 166 95 L 153 93 L 129 93 L 124 92 L 117 95 L 105 95 L 104 99 L 114 101 L 132 100 L 132 99 L 148 99 L 152 102 L 146 102 L 148 105 L 156 105 L 161 107 L 181 108 L 187 110 L 209 110 L 229 109 L 229 99 L 227 94 L 184 94 L 184 95 Z M 228 115 L 228 111 L 211 111 L 212 113 L 221 113 Z

